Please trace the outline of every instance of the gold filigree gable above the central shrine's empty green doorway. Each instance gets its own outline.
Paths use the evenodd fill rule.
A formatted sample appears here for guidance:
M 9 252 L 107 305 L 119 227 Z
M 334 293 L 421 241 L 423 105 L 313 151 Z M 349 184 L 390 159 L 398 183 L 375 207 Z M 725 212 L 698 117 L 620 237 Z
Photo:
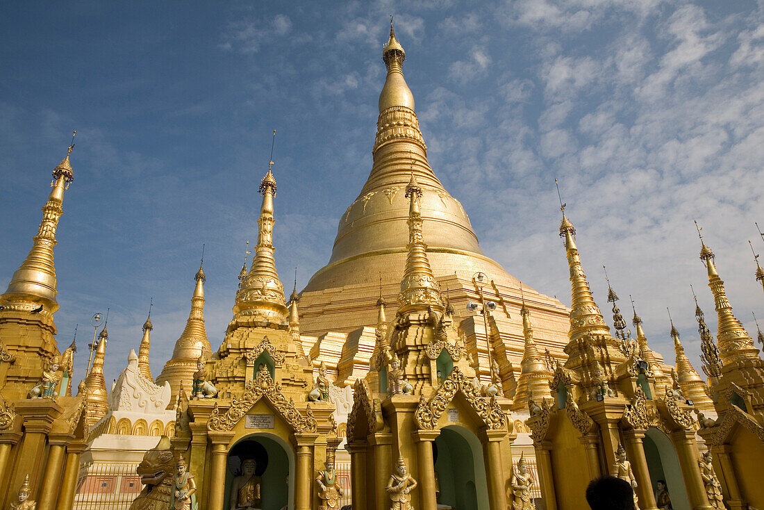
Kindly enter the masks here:
M 507 414 L 499 407 L 495 397 L 481 397 L 480 388 L 465 377 L 458 367 L 454 367 L 445 378 L 435 395 L 427 401 L 424 396 L 419 400 L 419 406 L 414 413 L 416 425 L 420 429 L 432 430 L 438 427 L 438 421 L 448 404 L 454 399 L 457 392 L 465 396 L 471 408 L 481 418 L 481 421 L 490 430 L 498 430 L 507 427 Z

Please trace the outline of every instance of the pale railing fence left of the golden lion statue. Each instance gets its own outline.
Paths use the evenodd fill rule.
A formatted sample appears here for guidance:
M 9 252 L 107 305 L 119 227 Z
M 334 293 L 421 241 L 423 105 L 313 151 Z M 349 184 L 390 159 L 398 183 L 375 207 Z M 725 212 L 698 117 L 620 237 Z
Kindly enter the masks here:
M 136 463 L 93 463 L 79 473 L 73 510 L 128 510 L 141 492 Z

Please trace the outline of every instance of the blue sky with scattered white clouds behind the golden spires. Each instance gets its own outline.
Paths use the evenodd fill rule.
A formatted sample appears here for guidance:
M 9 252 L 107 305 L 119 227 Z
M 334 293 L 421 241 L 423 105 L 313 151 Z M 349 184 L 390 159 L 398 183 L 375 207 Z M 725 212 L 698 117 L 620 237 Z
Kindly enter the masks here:
M 0 280 L 31 245 L 77 129 L 56 265 L 60 346 L 111 308 L 106 378 L 154 297 L 152 371 L 183 330 L 206 243 L 214 346 L 231 317 L 257 185 L 277 129 L 277 266 L 298 286 L 329 260 L 371 170 L 388 17 L 429 161 L 484 252 L 570 300 L 554 178 L 595 298 L 601 265 L 654 349 L 672 308 L 697 369 L 690 284 L 715 330 L 692 219 L 736 316 L 764 319 L 764 3 L 6 2 L 0 16 Z M 5 287 L 3 287 L 5 288 Z M 90 330 L 90 333 L 88 333 Z M 76 376 L 82 376 L 82 370 Z

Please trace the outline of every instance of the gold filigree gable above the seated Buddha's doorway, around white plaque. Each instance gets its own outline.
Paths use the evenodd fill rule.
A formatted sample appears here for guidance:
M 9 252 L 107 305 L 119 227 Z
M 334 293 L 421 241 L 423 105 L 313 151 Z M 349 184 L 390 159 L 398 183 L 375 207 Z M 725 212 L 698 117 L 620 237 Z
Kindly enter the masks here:
M 267 370 L 261 370 L 257 372 L 257 377 L 254 380 L 247 382 L 244 395 L 231 401 L 231 408 L 228 408 L 225 414 L 220 414 L 215 404 L 215 408 L 213 408 L 207 421 L 207 430 L 231 430 L 244 417 L 244 414 L 247 414 L 252 406 L 263 397 L 267 398 L 286 423 L 290 424 L 297 432 L 315 432 L 318 429 L 319 424 L 316 418 L 312 416 L 310 408 L 308 407 L 305 415 L 300 413 L 294 401 L 286 400 L 281 392 L 281 385 L 276 384 L 270 378 Z

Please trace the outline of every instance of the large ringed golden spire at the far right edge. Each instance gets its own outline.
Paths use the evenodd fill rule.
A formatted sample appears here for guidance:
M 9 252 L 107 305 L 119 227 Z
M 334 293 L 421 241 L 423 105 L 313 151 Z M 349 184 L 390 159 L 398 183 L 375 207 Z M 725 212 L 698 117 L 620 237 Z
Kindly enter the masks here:
M 732 305 L 727 300 L 727 293 L 724 290 L 724 281 L 719 278 L 714 263 L 714 252 L 711 252 L 711 249 L 706 246 L 701 235 L 702 229 L 698 226 L 697 221 L 695 228 L 698 229 L 698 237 L 701 239 L 701 260 L 704 261 L 708 271 L 708 287 L 711 287 L 711 292 L 714 294 L 714 304 L 716 304 L 717 341 L 721 359 L 724 365 L 745 359 L 759 359 L 759 349 L 756 349 L 753 345 L 753 339 L 732 313 Z

